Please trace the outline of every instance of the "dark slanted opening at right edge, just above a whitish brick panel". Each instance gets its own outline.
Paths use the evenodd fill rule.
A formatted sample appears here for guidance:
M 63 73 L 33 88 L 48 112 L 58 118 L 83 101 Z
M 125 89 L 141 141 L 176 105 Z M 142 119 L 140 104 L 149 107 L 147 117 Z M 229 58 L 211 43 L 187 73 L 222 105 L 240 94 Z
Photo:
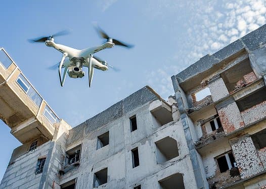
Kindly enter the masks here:
M 237 100 L 237 106 L 239 108 L 239 111 L 244 111 L 246 109 L 249 109 L 251 107 L 253 107 L 254 105 L 260 104 L 263 101 L 266 101 L 266 88 L 263 87 L 257 91 L 255 91 L 254 93 L 240 99 Z

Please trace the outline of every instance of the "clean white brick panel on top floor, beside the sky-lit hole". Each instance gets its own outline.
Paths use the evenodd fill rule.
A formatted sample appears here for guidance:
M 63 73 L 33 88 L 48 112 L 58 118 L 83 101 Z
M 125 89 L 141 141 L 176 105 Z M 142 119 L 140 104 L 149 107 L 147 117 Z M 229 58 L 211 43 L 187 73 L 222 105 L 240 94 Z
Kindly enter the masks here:
M 229 95 L 223 79 L 219 78 L 208 85 L 213 102 Z

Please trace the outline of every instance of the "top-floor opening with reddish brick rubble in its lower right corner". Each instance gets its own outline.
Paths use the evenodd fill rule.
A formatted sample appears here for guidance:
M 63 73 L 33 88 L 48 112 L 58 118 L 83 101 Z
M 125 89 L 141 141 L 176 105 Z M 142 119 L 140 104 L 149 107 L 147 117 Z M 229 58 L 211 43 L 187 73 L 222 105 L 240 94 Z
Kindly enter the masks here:
M 257 80 L 249 59 L 245 59 L 220 74 L 229 92 L 236 91 Z

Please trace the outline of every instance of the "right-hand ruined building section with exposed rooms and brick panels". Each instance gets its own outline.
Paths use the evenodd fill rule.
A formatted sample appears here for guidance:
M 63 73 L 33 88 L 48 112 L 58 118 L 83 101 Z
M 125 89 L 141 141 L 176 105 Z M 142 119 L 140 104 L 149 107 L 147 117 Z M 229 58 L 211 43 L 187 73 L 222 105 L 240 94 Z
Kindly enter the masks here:
M 172 79 L 210 188 L 266 187 L 266 26 Z

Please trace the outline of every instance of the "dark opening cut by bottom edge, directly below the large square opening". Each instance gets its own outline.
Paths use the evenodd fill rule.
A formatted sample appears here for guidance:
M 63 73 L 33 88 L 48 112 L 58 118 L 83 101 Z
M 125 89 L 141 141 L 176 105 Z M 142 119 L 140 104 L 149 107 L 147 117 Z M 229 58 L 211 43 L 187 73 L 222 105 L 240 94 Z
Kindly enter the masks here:
M 158 182 L 160 184 L 161 189 L 172 189 L 172 188 L 185 189 L 183 175 L 180 173 L 168 176 L 162 180 L 159 180 Z

